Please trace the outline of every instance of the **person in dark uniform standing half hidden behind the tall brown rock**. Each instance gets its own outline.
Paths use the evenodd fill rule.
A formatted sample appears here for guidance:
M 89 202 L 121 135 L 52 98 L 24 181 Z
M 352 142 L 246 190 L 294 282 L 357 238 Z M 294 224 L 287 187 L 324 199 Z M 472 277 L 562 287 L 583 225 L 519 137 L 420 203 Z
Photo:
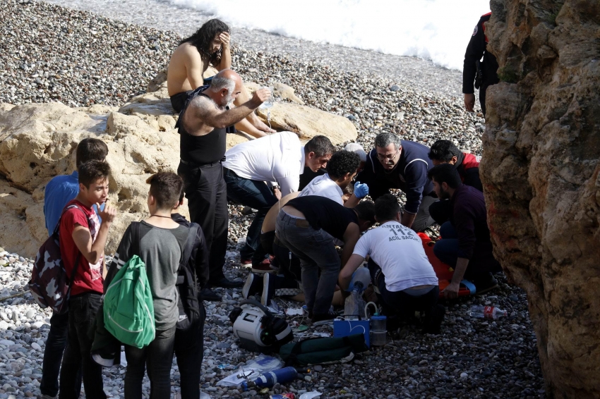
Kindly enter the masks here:
M 486 90 L 490 85 L 496 85 L 498 80 L 498 61 L 490 54 L 486 47 L 488 37 L 486 36 L 486 23 L 490 20 L 492 13 L 487 13 L 479 18 L 473 35 L 464 53 L 464 65 L 462 66 L 462 92 L 464 93 L 464 107 L 472 112 L 475 106 L 475 89 L 479 89 L 479 104 L 481 112 L 486 115 Z M 484 61 L 479 62 L 481 57 Z M 477 71 L 481 78 L 477 78 Z M 477 78 L 477 81 L 475 82 Z

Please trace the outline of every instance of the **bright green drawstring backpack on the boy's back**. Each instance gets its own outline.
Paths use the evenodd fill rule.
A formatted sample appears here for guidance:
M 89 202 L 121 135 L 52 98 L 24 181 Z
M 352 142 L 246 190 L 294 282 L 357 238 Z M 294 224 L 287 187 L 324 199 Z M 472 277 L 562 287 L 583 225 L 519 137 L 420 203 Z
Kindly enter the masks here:
M 131 223 L 139 253 L 140 224 Z M 154 306 L 146 266 L 135 254 L 115 274 L 104 294 L 104 327 L 126 345 L 143 348 L 155 338 Z

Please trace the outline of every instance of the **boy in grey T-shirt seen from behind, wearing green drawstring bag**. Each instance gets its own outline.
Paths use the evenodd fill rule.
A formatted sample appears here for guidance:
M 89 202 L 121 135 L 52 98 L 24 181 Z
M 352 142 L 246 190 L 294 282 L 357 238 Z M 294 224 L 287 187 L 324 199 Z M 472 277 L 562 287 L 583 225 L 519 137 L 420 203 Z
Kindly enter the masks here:
M 173 348 L 176 324 L 179 319 L 178 292 L 176 290 L 179 263 L 183 256 L 184 247 L 188 240 L 189 226 L 181 225 L 171 218 L 171 211 L 179 206 L 179 198 L 183 190 L 183 180 L 174 173 L 161 172 L 148 178 L 150 191 L 148 192 L 148 210 L 150 217 L 139 223 L 132 223 L 125 231 L 121 243 L 114 255 L 107 276 L 107 290 L 104 302 L 104 324 L 113 333 L 115 338 L 121 339 L 119 333 L 119 319 L 111 316 L 111 304 L 107 301 L 111 286 L 119 281 L 115 276 L 124 278 L 137 278 L 135 295 L 138 308 L 145 308 L 143 292 L 145 288 L 145 274 L 148 288 L 152 297 L 151 307 L 148 312 L 154 314 L 155 338 L 150 343 L 125 345 L 127 359 L 127 372 L 125 374 L 125 397 L 142 398 L 142 380 L 145 367 L 148 367 L 150 378 L 150 396 L 156 399 L 170 398 L 171 379 L 170 372 L 173 362 Z M 135 237 L 138 233 L 138 237 Z M 133 241 L 137 242 L 134 243 Z M 135 253 L 138 252 L 138 253 Z M 138 259 L 145 264 L 141 271 Z M 132 259 L 133 258 L 133 259 Z M 125 277 L 119 270 L 128 262 L 128 268 L 133 266 L 136 273 Z M 133 299 L 130 298 L 133 301 Z M 140 311 L 140 315 L 146 314 Z M 147 329 L 140 327 L 143 332 Z M 135 330 L 135 329 L 134 329 Z M 125 339 L 125 338 L 123 338 Z M 146 340 L 149 340 L 148 338 Z M 140 348 L 140 346 L 142 346 Z

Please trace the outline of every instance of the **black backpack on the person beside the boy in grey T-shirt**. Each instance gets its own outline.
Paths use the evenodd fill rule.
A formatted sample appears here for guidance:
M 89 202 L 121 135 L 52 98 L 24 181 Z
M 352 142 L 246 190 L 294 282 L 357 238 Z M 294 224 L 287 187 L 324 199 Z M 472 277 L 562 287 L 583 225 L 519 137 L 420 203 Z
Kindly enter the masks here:
M 192 324 L 200 319 L 200 302 L 198 302 L 198 278 L 196 270 L 191 269 L 188 262 L 193 250 L 193 244 L 198 234 L 200 226 L 196 223 L 190 223 L 188 239 L 184 247 L 184 254 L 179 262 L 177 271 L 176 288 L 179 291 L 179 319 L 176 327 L 179 330 L 187 330 Z

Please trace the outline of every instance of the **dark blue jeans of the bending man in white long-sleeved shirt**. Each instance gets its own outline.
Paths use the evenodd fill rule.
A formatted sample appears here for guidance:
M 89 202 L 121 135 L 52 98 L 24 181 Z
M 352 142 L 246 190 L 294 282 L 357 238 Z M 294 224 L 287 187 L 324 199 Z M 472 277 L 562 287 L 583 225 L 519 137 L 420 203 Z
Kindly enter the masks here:
M 277 203 L 277 197 L 263 181 L 241 178 L 228 168 L 223 168 L 223 172 L 227 184 L 227 197 L 246 207 L 258 209 L 248 227 L 246 244 L 239 252 L 241 259 L 252 259 L 253 264 L 263 262 L 267 252 L 263 245 L 260 245 L 260 229 L 263 227 L 265 215 Z

